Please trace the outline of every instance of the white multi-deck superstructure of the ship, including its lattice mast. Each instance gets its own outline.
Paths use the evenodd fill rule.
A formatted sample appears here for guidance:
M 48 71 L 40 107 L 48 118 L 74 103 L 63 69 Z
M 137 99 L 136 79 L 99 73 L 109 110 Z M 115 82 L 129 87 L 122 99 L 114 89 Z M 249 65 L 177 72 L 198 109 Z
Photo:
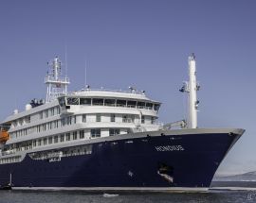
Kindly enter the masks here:
M 55 58 L 52 72 L 46 76 L 46 103 L 33 100 L 26 110 L 10 115 L 2 123 L 9 140 L 2 145 L 0 164 L 22 161 L 27 153 L 67 145 L 73 147 L 71 154 L 80 153 L 79 145 L 86 140 L 162 127 L 157 123 L 160 103 L 145 93 L 134 88 L 122 92 L 89 87 L 67 93 L 69 80 L 60 74 L 61 63 Z M 62 152 L 62 156 L 66 153 Z

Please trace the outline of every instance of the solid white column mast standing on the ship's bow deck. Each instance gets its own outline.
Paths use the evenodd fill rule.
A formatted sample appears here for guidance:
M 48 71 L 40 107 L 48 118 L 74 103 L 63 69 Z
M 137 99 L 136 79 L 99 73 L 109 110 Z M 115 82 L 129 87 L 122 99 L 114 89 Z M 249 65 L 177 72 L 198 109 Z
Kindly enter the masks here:
M 197 128 L 197 110 L 199 101 L 197 100 L 196 92 L 200 86 L 196 81 L 195 56 L 189 57 L 189 82 L 184 82 L 183 87 L 179 90 L 182 93 L 189 93 L 189 115 L 187 118 L 188 128 Z

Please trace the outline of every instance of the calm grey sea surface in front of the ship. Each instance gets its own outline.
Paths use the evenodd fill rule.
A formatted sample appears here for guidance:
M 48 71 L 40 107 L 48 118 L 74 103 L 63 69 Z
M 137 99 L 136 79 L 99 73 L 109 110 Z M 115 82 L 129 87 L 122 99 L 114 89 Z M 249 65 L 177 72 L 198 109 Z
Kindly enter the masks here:
M 117 193 L 115 193 L 117 194 Z M 85 192 L 0 191 L 0 203 L 100 203 L 100 202 L 256 202 L 256 191 L 210 190 L 208 193 L 124 193 L 116 197 Z

